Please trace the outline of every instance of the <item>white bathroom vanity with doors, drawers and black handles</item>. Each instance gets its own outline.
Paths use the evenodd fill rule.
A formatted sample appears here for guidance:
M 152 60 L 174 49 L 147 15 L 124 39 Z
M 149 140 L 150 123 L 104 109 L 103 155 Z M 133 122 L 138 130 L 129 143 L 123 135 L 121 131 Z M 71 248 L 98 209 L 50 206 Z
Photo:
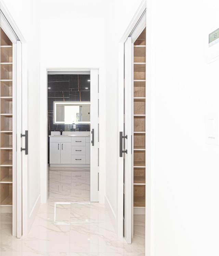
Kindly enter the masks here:
M 50 167 L 90 167 L 90 132 L 51 132 Z

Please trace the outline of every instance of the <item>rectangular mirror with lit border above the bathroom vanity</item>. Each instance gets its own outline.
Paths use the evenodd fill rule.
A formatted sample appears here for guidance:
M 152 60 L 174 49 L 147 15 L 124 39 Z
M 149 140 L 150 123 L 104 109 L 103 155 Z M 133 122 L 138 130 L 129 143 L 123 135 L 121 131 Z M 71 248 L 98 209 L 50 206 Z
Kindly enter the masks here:
M 90 102 L 54 101 L 54 124 L 90 124 Z

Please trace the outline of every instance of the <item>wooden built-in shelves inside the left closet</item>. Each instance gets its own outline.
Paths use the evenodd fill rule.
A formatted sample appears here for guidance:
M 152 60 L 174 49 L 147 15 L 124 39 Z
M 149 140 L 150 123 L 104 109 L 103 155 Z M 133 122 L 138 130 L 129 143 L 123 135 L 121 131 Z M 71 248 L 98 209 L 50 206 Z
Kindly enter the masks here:
M 0 29 L 0 206 L 12 206 L 13 45 Z M 2 208 L 1 208 L 2 209 Z M 7 210 L 6 210 L 7 211 Z

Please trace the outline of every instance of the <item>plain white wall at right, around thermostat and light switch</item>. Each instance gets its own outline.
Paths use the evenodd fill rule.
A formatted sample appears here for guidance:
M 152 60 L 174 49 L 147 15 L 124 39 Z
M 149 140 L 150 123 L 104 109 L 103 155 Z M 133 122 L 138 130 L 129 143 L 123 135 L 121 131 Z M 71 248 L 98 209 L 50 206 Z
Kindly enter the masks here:
M 213 0 L 147 4 L 154 129 L 152 255 L 219 254 L 219 147 L 205 143 L 205 113 L 219 113 L 219 61 L 207 64 L 204 59 L 205 27 L 219 27 L 218 9 Z

